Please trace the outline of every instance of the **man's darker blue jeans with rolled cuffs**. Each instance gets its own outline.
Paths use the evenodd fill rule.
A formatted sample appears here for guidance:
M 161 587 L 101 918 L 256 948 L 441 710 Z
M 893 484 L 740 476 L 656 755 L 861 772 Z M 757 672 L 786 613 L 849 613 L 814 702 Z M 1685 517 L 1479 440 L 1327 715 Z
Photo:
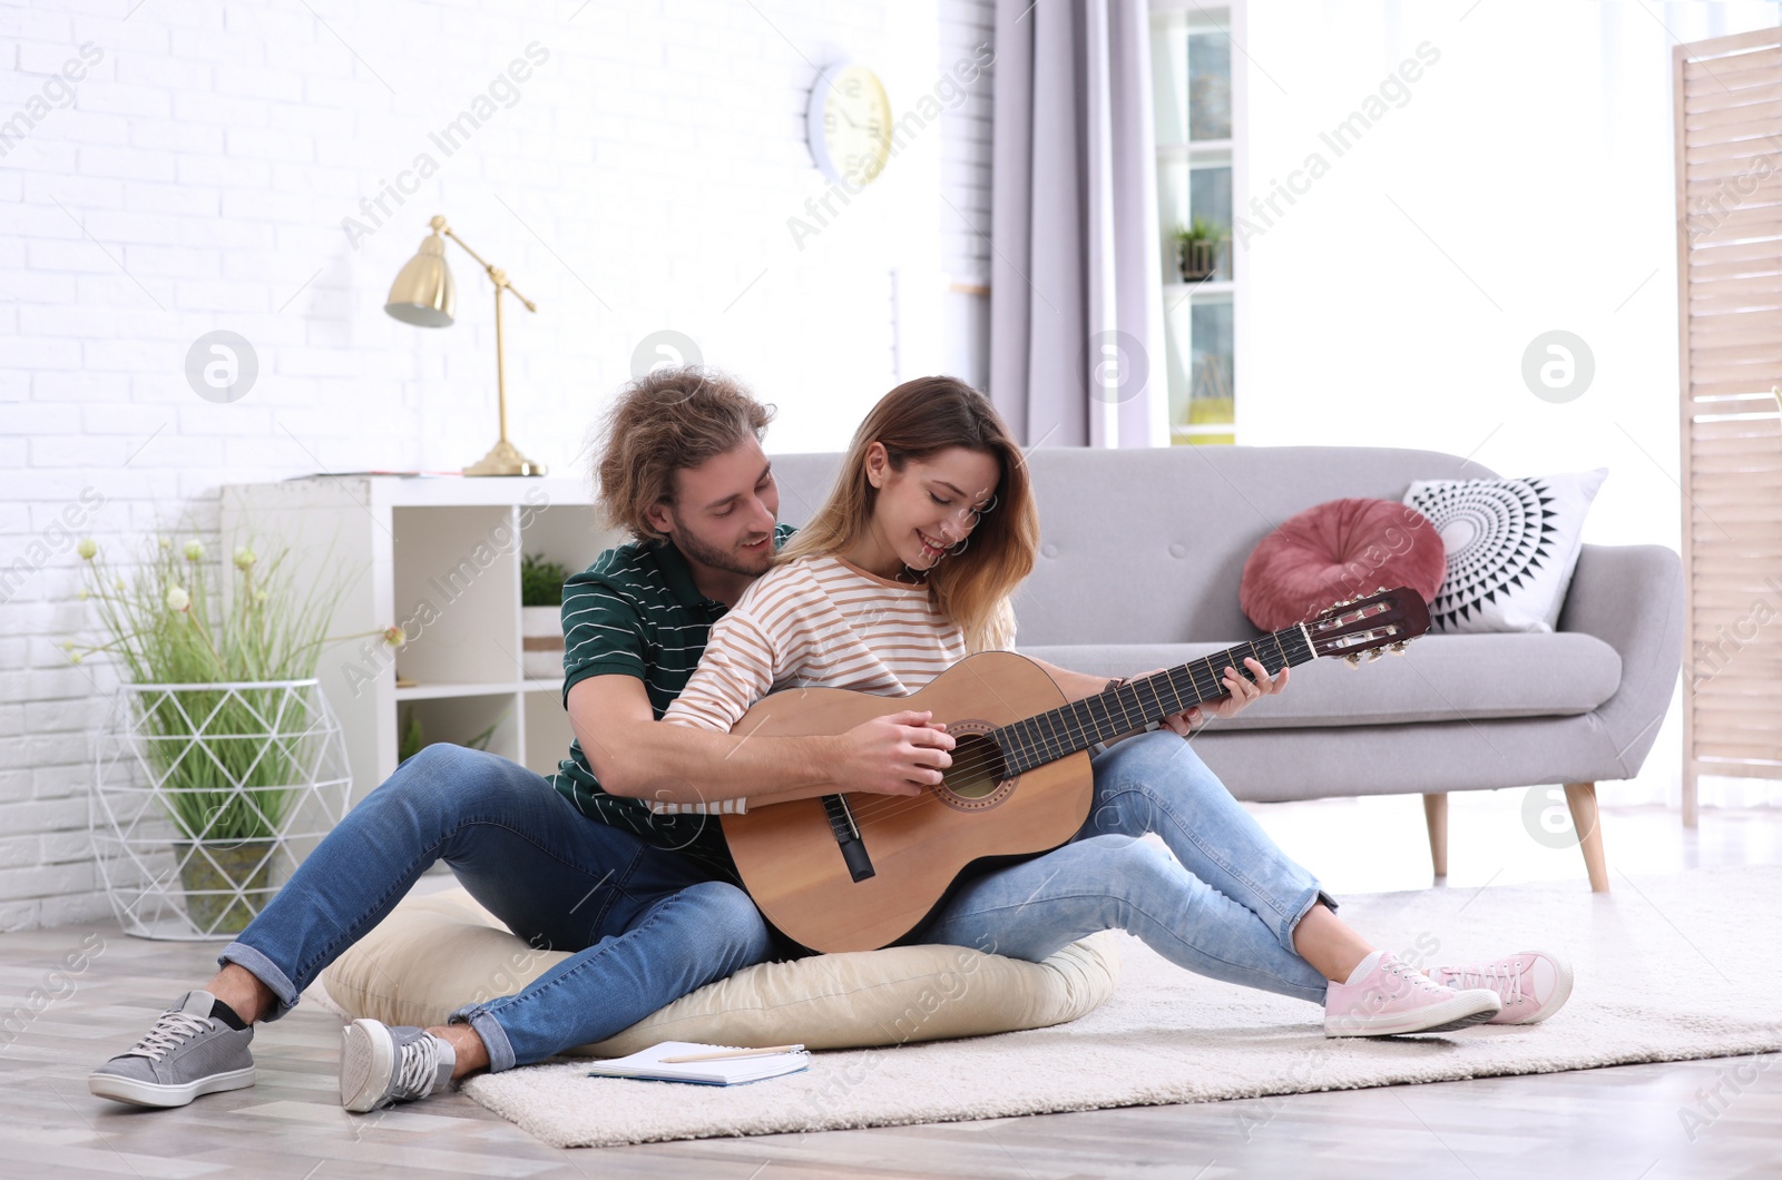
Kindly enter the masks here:
M 490 1069 L 609 1037 L 772 954 L 748 895 L 699 861 L 590 820 L 524 766 L 429 745 L 340 820 L 217 963 L 271 987 L 278 1020 L 435 861 L 533 946 L 574 952 L 519 995 L 453 1012 L 483 1037 Z

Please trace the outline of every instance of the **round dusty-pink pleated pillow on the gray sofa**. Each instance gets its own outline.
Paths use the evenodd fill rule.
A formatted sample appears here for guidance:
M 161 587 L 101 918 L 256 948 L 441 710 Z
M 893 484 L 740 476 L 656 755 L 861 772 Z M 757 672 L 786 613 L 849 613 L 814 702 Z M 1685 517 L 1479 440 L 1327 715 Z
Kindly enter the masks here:
M 1237 597 L 1253 624 L 1279 631 L 1379 586 L 1410 586 L 1427 602 L 1445 574 L 1429 517 L 1392 499 L 1333 499 L 1262 538 Z

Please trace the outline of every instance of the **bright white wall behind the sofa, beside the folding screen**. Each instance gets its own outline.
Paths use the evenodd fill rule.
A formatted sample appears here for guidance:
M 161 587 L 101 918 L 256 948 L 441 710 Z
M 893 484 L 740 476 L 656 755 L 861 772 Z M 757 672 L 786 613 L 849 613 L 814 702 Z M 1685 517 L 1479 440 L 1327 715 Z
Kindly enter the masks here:
M 1242 440 L 1429 447 L 1506 476 L 1607 467 L 1584 540 L 1675 547 L 1672 46 L 1777 23 L 1775 4 L 1253 0 L 1233 55 L 1251 150 Z M 1338 155 L 1320 134 L 1420 45 L 1435 64 Z M 1274 182 L 1303 193 L 1249 207 Z M 1595 355 L 1565 405 L 1522 380 L 1549 330 Z M 1679 790 L 1673 704 L 1641 777 L 1604 799 Z

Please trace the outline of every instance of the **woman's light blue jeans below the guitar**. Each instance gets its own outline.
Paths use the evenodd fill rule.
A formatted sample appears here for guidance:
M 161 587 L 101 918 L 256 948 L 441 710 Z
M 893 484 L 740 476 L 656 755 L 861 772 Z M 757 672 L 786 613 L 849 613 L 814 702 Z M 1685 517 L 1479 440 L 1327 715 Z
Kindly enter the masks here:
M 1290 861 L 1167 729 L 1091 763 L 1096 795 L 1076 838 L 969 879 L 911 941 L 1039 963 L 1096 930 L 1128 930 L 1176 966 L 1324 1002 L 1326 979 L 1294 952 L 1319 882 Z M 1157 832 L 1171 857 L 1137 836 Z

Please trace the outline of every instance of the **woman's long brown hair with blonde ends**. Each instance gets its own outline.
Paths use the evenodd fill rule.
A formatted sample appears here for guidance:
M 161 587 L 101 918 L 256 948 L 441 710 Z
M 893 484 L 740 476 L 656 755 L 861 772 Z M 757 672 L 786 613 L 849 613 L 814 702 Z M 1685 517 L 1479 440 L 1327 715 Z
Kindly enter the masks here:
M 1009 595 L 1034 570 L 1039 549 L 1039 510 L 1028 481 L 1026 458 L 989 397 L 950 376 L 925 376 L 898 385 L 879 399 L 841 462 L 836 488 L 811 522 L 779 551 L 777 561 L 852 549 L 866 535 L 879 488 L 866 478 L 866 451 L 879 442 L 893 471 L 927 460 L 948 447 L 978 451 L 996 460 L 996 506 L 985 512 L 959 556 L 946 554 L 928 570 L 936 608 L 966 633 L 966 651 L 978 652 L 1014 642 Z

